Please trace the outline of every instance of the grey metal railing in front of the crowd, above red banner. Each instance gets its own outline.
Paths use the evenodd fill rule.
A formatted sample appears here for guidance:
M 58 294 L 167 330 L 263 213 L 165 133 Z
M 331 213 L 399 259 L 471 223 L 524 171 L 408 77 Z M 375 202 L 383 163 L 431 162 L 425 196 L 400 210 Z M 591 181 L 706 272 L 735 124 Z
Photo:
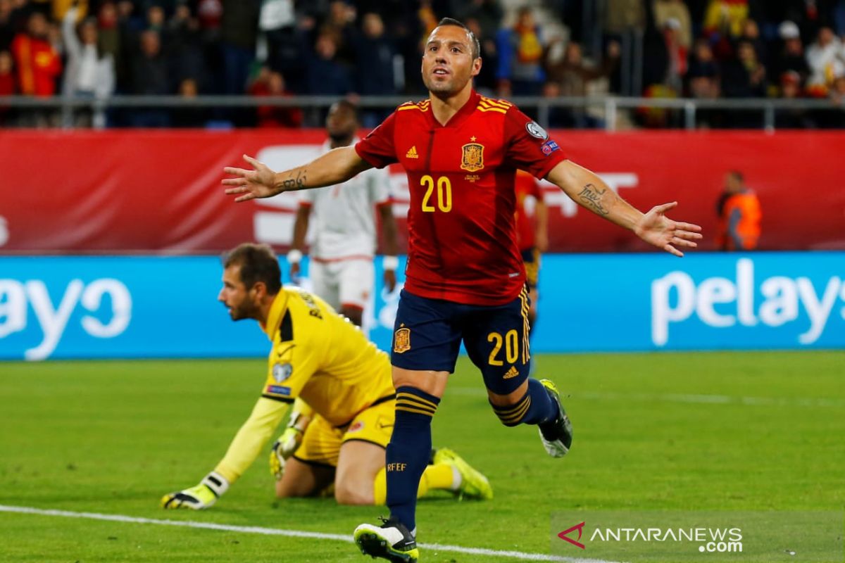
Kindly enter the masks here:
M 248 95 L 200 95 L 185 98 L 177 95 L 143 96 L 115 95 L 102 99 L 74 98 L 54 96 L 36 98 L 31 96 L 0 96 L 0 108 L 21 110 L 61 111 L 68 117 L 74 110 L 90 109 L 104 111 L 117 108 L 178 109 L 178 108 L 252 108 L 259 106 L 278 106 L 320 110 L 328 108 L 339 96 L 248 96 Z M 355 100 L 363 109 L 391 110 L 408 101 L 408 96 L 356 96 Z M 699 100 L 693 98 L 638 98 L 621 96 L 586 96 L 542 98 L 535 96 L 514 96 L 509 99 L 523 111 L 534 112 L 543 127 L 548 127 L 553 110 L 581 110 L 598 118 L 598 123 L 607 131 L 620 128 L 620 115 L 623 111 L 668 110 L 677 116 L 668 127 L 695 129 L 697 118 L 702 110 L 745 111 L 760 115 L 760 125 L 750 128 L 774 130 L 777 111 L 821 111 L 825 115 L 834 114 L 842 117 L 845 112 L 845 100 L 833 99 L 777 99 L 746 98 Z M 63 119 L 63 122 L 71 122 Z M 843 120 L 845 121 L 845 120 Z M 596 127 L 593 127 L 596 128 Z M 601 128 L 601 127 L 599 127 Z M 714 127 L 715 128 L 715 127 Z

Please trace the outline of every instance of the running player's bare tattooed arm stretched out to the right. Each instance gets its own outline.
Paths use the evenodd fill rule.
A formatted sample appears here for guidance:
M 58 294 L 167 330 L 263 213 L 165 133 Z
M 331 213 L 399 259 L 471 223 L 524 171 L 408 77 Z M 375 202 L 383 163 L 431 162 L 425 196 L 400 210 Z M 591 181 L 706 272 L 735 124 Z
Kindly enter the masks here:
M 576 203 L 616 225 L 633 230 L 643 241 L 675 256 L 684 256 L 684 252 L 676 246 L 695 248 L 698 246 L 695 241 L 701 239 L 700 226 L 679 223 L 665 215 L 678 202 L 657 205 L 643 214 L 620 198 L 596 174 L 570 160 L 556 165 L 546 179 L 560 187 Z

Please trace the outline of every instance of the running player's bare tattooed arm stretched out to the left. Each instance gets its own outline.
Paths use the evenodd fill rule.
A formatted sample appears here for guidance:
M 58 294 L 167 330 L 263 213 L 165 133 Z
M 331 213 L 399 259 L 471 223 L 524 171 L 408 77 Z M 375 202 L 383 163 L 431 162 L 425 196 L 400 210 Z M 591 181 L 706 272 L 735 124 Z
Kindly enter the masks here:
M 306 190 L 311 187 L 334 186 L 372 168 L 372 165 L 358 156 L 354 146 L 332 149 L 307 165 L 283 172 L 272 171 L 263 162 L 247 154 L 243 155 L 243 160 L 252 165 L 253 170 L 232 166 L 223 169 L 226 174 L 236 176 L 226 178 L 222 182 L 224 186 L 231 186 L 226 189 L 226 194 L 238 196 L 235 198 L 236 202 L 272 198 L 281 192 Z

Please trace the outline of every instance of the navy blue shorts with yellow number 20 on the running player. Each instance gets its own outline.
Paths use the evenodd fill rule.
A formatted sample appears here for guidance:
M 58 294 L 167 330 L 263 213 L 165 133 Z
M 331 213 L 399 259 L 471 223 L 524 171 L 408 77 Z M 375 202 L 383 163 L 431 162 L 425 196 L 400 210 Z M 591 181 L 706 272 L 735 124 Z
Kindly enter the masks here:
M 499 306 L 462 305 L 402 290 L 390 363 L 406 370 L 455 371 L 461 339 L 487 388 L 515 391 L 528 377 L 528 290 Z

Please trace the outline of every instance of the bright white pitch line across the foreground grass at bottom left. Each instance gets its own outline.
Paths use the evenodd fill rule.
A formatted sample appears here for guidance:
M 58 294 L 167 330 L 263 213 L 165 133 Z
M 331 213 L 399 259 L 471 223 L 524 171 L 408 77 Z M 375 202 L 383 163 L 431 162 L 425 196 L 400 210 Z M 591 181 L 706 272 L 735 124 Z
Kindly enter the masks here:
M 125 516 L 123 514 L 100 514 L 98 512 L 71 512 L 34 508 L 32 506 L 0 505 L 0 512 L 14 512 L 17 514 L 36 514 L 38 516 L 56 516 L 65 518 L 85 518 L 88 520 L 106 520 L 108 522 L 128 522 L 132 524 L 156 524 L 159 526 L 177 526 L 182 528 L 200 528 L 218 530 L 221 532 L 260 533 L 268 536 L 286 536 L 288 538 L 334 539 L 351 544 L 352 537 L 348 534 L 305 532 L 303 530 L 284 530 L 281 528 L 261 528 L 260 526 L 232 526 L 229 524 L 215 524 L 214 522 L 194 522 L 191 520 L 162 520 L 158 518 L 142 518 Z M 525 561 L 563 561 L 564 563 L 614 563 L 599 559 L 577 559 L 573 557 L 559 557 L 542 553 L 526 553 L 524 551 L 504 551 L 499 549 L 483 549 L 463 547 L 461 545 L 419 544 L 423 549 L 439 551 L 454 551 L 466 555 L 487 555 L 489 557 L 510 557 Z

